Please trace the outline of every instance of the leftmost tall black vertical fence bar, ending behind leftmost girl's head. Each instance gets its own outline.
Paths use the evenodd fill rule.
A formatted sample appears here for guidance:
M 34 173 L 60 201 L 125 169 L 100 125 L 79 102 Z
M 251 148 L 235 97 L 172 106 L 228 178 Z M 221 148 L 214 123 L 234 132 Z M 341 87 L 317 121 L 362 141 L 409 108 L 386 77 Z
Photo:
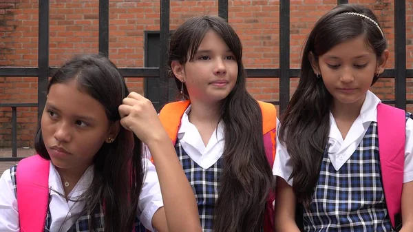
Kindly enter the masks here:
M 37 116 L 40 119 L 46 103 L 49 77 L 49 0 L 39 1 L 39 78 L 37 79 Z

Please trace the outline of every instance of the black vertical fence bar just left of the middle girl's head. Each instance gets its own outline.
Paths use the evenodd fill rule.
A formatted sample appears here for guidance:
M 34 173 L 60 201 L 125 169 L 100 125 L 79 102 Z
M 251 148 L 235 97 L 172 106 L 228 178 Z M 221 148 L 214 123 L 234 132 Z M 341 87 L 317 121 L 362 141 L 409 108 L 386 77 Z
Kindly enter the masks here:
M 169 48 L 169 0 L 160 0 L 160 56 L 159 56 L 159 83 L 162 88 L 159 92 L 160 105 L 169 101 L 168 78 L 168 48 Z

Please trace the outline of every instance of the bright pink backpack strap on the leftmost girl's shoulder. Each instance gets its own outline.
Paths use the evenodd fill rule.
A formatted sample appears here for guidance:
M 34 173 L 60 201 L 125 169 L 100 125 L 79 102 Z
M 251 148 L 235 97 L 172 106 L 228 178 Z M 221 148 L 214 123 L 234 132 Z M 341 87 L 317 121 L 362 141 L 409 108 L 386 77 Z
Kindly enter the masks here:
M 17 202 L 20 231 L 45 229 L 49 204 L 50 161 L 39 155 L 24 158 L 17 165 Z

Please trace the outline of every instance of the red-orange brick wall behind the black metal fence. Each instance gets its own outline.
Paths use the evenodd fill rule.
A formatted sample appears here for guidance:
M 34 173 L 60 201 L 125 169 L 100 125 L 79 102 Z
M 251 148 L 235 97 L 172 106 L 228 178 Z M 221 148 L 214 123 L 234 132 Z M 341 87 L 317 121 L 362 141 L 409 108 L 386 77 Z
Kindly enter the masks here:
M 37 65 L 38 1 L 3 0 L 0 3 L 0 65 Z M 394 67 L 394 1 L 350 0 L 374 10 L 389 40 L 389 68 Z M 290 1 L 290 66 L 299 67 L 301 48 L 315 21 L 337 0 Z M 407 68 L 413 68 L 413 3 L 406 3 Z M 109 1 L 109 58 L 118 67 L 143 67 L 144 31 L 159 30 L 158 0 Z M 218 14 L 218 1 L 171 0 L 171 30 L 188 17 Z M 279 66 L 279 1 L 229 0 L 229 22 L 244 45 L 246 67 Z M 98 52 L 98 1 L 50 1 L 50 66 L 72 54 Z M 127 78 L 131 90 L 143 92 L 142 78 Z M 297 86 L 291 80 L 290 91 Z M 279 98 L 277 78 L 251 78 L 248 90 L 263 101 Z M 394 99 L 394 82 L 379 81 L 372 90 L 382 99 Z M 413 99 L 412 81 L 407 98 Z M 36 103 L 35 77 L 0 77 L 0 99 L 6 103 Z M 409 109 L 413 109 L 409 106 Z M 37 108 L 18 108 L 18 146 L 32 147 Z M 0 147 L 11 146 L 11 109 L 0 108 Z

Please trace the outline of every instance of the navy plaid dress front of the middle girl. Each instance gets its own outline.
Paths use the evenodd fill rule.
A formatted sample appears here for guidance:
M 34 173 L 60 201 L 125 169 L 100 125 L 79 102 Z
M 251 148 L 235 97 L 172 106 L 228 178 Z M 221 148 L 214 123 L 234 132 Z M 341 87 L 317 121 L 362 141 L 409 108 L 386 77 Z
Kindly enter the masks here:
M 195 193 L 202 231 L 213 232 L 213 211 L 215 200 L 218 198 L 222 159 L 220 158 L 209 169 L 203 169 L 182 149 L 178 139 L 175 149 L 184 173 Z

